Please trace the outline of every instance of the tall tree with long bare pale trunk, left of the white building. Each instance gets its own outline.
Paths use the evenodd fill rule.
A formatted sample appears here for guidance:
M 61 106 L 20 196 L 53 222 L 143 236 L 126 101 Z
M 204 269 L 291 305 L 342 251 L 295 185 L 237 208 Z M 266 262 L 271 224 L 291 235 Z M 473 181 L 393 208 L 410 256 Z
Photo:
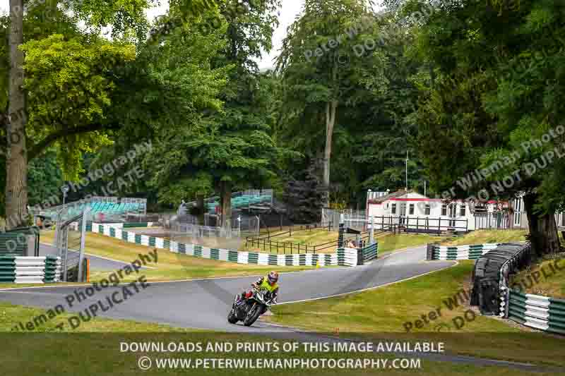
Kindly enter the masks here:
M 352 90 L 357 83 L 363 83 L 357 88 L 370 90 L 381 79 L 379 75 L 364 76 L 358 71 L 367 62 L 355 47 L 359 43 L 363 46 L 362 32 L 372 27 L 369 16 L 367 1 L 306 0 L 302 15 L 288 30 L 278 59 L 278 71 L 285 84 L 285 105 L 291 109 L 297 128 L 319 133 L 320 123 L 324 124 L 322 182 L 326 206 L 339 107 L 362 97 L 363 90 Z

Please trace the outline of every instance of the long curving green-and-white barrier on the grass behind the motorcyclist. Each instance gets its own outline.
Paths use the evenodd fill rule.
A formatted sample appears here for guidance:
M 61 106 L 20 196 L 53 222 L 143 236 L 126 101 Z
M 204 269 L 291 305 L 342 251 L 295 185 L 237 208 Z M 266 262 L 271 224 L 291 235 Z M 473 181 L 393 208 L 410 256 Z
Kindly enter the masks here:
M 112 228 L 112 231 L 110 229 Z M 340 248 L 337 253 L 302 253 L 293 255 L 269 255 L 258 252 L 241 252 L 220 248 L 207 248 L 202 245 L 179 243 L 155 236 L 133 234 L 133 232 L 117 229 L 107 224 L 92 224 L 92 232 L 117 238 L 129 243 L 151 245 L 155 248 L 169 250 L 174 253 L 184 253 L 189 256 L 203 257 L 210 260 L 237 262 L 239 264 L 278 265 L 278 266 L 328 266 L 328 265 L 357 265 L 357 250 Z

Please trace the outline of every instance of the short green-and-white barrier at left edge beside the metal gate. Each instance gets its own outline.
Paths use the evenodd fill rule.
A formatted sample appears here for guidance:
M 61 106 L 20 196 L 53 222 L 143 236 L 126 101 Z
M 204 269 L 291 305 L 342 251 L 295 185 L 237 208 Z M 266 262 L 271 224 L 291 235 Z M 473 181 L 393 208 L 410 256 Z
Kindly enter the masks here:
M 61 257 L 0 256 L 0 282 L 43 284 L 61 280 Z

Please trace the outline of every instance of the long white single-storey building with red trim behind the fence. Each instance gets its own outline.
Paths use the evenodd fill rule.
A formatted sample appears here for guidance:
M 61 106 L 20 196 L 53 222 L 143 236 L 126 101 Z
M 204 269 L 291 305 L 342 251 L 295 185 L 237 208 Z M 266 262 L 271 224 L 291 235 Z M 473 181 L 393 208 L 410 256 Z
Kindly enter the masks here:
M 399 190 L 393 193 L 367 193 L 367 222 L 374 217 L 376 229 L 396 225 L 410 232 L 471 231 L 511 229 L 528 226 L 521 199 L 509 202 L 488 201 L 484 205 L 453 200 L 444 203 L 420 193 Z M 516 207 L 517 206 L 517 207 Z M 524 224 L 525 222 L 525 224 Z

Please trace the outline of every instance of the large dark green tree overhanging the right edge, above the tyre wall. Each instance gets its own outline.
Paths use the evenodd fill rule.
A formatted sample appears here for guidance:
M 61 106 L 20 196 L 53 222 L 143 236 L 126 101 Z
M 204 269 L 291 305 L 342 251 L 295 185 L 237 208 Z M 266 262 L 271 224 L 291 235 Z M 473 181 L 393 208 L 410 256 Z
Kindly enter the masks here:
M 523 194 L 538 255 L 559 250 L 554 212 L 564 205 L 565 161 L 528 166 L 541 166 L 564 138 L 524 145 L 563 124 L 564 17 L 551 1 L 467 1 L 434 12 L 417 31 L 435 75 L 418 114 L 432 183 L 446 199 Z M 469 178 L 476 169 L 480 178 Z

